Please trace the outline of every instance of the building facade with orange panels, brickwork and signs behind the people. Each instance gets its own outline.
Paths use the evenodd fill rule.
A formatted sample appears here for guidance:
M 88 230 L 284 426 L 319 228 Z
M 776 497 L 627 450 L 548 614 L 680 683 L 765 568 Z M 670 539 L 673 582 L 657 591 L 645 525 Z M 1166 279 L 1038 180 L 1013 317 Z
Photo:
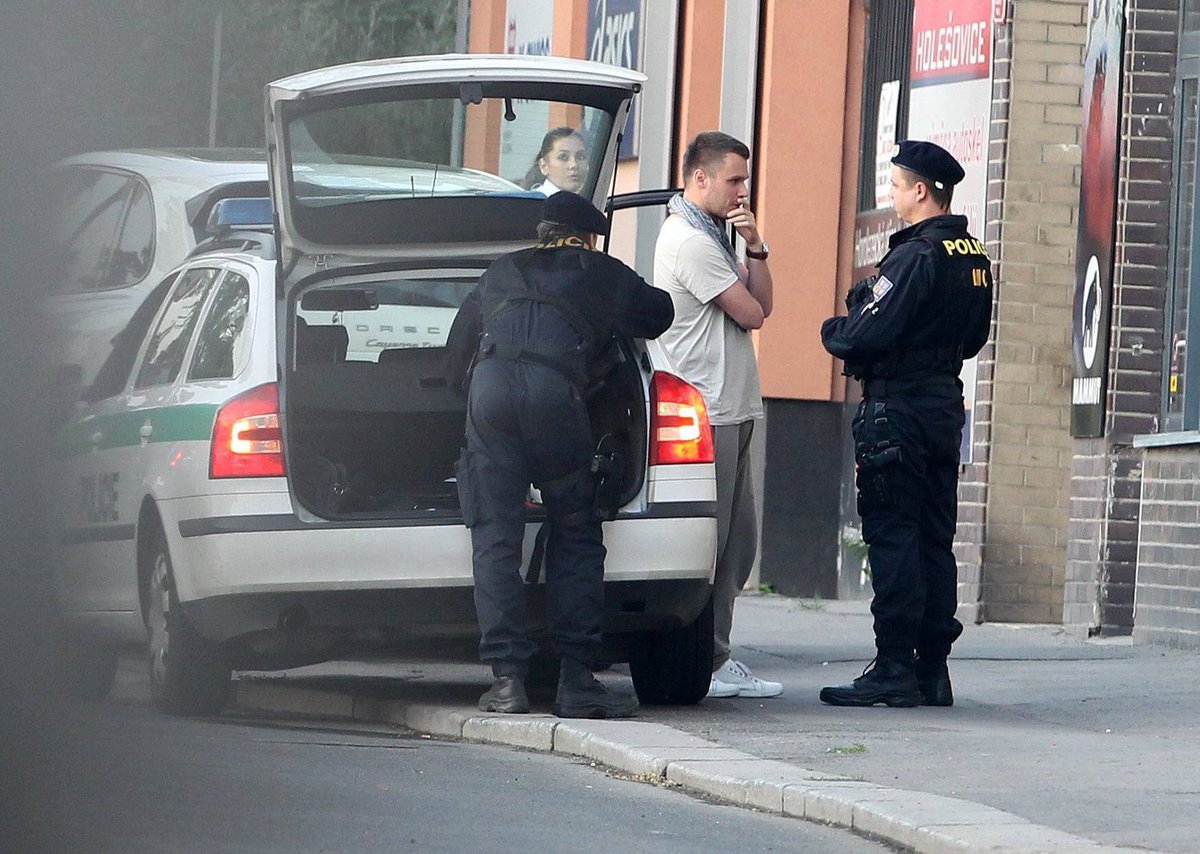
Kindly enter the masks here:
M 941 142 L 995 263 L 964 375 L 960 619 L 1200 648 L 1200 0 L 472 0 L 470 50 L 631 65 L 649 82 L 614 190 L 678 186 L 698 131 L 752 151 L 775 312 L 756 332 L 760 579 L 870 594 L 821 321 L 898 223 L 890 146 Z M 650 267 L 662 214 L 618 215 Z

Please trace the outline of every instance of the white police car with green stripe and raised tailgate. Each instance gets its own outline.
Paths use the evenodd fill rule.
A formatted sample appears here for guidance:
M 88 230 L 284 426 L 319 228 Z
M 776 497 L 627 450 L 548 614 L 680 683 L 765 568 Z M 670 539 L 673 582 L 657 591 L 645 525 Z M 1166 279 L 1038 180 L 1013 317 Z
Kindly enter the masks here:
M 642 79 L 470 55 L 268 88 L 270 202 L 214 205 L 211 240 L 138 309 L 55 443 L 54 566 L 82 686 L 102 696 L 115 645 L 149 636 L 160 706 L 211 714 L 234 669 L 478 637 L 450 321 L 490 260 L 532 240 L 542 197 L 509 179 L 545 130 L 583 128 L 602 200 Z M 589 404 L 614 515 L 606 639 L 644 702 L 695 703 L 716 542 L 704 402 L 653 342 L 622 351 Z M 528 518 L 539 624 L 533 501 Z

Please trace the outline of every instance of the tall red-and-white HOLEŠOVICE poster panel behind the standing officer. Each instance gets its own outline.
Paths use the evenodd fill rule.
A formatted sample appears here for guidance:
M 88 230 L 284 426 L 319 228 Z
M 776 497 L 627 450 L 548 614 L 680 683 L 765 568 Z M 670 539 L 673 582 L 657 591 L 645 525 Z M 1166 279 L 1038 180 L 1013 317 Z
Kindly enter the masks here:
M 908 138 L 949 151 L 966 176 L 954 188 L 952 211 L 984 236 L 988 208 L 988 149 L 991 128 L 994 0 L 916 0 L 912 25 L 912 91 Z M 962 462 L 971 461 L 977 365 L 962 366 L 967 407 Z

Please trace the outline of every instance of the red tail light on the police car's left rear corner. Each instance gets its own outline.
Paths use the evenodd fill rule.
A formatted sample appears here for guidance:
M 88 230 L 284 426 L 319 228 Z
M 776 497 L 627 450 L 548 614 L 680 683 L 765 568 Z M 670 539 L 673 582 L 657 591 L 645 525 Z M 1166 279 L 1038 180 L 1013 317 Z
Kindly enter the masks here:
M 280 477 L 283 434 L 275 383 L 239 395 L 221 407 L 212 427 L 210 477 Z

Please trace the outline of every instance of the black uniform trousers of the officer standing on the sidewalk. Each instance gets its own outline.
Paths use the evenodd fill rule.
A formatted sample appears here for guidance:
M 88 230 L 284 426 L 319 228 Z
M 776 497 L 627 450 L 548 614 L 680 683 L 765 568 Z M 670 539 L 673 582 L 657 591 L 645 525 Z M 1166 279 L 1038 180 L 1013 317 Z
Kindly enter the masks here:
M 953 552 L 962 425 L 961 386 L 950 374 L 864 384 L 852 425 L 858 512 L 875 643 L 894 661 L 912 661 L 914 651 L 944 660 L 962 633 Z M 898 444 L 899 453 L 859 453 L 881 444 Z

